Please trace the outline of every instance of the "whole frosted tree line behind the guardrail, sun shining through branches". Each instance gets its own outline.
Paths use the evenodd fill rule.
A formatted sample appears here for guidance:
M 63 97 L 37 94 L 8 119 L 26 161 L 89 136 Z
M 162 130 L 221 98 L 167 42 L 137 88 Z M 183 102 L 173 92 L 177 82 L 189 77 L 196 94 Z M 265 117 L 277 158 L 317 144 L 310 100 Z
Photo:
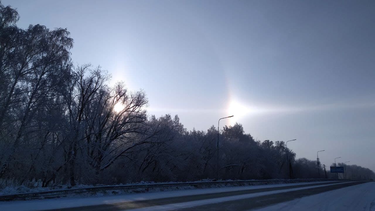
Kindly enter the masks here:
M 67 29 L 21 29 L 19 18 L 0 2 L 0 188 L 195 181 L 216 178 L 217 169 L 220 179 L 287 178 L 287 152 L 292 177 L 324 172 L 238 123 L 219 131 L 217 166 L 214 126 L 188 131 L 177 115 L 149 115 L 142 90 L 110 86 L 100 66 L 72 64 Z M 374 178 L 363 172 L 361 179 Z

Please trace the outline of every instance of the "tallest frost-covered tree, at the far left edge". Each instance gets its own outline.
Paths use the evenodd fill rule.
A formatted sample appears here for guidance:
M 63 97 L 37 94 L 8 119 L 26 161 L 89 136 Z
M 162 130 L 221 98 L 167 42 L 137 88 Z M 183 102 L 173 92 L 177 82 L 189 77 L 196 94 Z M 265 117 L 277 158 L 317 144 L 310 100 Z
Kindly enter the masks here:
M 38 115 L 59 103 L 57 89 L 70 69 L 73 46 L 66 29 L 37 24 L 24 30 L 15 25 L 18 18 L 0 3 L 0 178 L 33 161 L 33 155 L 20 154 L 33 152 L 30 139 L 43 136 L 36 131 L 50 135 L 51 125 Z

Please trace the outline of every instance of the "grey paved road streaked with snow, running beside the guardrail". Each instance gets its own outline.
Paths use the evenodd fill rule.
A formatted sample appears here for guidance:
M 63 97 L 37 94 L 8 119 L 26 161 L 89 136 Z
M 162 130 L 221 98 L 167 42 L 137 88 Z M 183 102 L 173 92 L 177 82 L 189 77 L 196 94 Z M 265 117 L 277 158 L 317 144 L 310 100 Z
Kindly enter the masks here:
M 77 199 L 77 203 L 65 206 L 72 199 L 33 200 L 0 203 L 0 210 L 60 210 L 60 211 L 165 211 L 165 210 L 249 210 L 290 201 L 303 196 L 357 186 L 359 182 L 320 182 L 300 184 L 258 185 L 208 190 L 168 191 L 111 197 Z M 138 197 L 136 197 L 138 196 Z M 151 197 L 150 197 L 151 196 Z M 127 200 L 120 200 L 121 197 Z M 104 200 L 108 199 L 108 200 Z M 83 206 L 80 200 L 102 200 L 105 204 Z M 92 202 L 92 201 L 91 201 Z M 90 204 L 90 203 L 88 203 Z M 93 204 L 93 203 L 92 203 Z M 95 203 L 94 203 L 95 204 Z M 13 205 L 13 206 L 12 206 Z M 73 206 L 76 207 L 73 207 Z M 69 208 L 63 208 L 63 207 Z M 51 209 L 52 207 L 58 209 Z M 267 210 L 267 209 L 265 209 Z M 278 210 L 276 208 L 275 210 Z

